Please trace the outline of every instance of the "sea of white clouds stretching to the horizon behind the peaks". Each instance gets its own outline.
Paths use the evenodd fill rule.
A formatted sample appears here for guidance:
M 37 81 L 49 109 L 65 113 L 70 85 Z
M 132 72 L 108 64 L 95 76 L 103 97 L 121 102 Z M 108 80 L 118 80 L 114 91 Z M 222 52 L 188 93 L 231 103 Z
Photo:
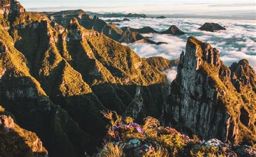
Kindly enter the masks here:
M 105 18 L 109 19 L 109 18 Z M 117 19 L 117 18 L 112 18 Z M 123 18 L 119 18 L 123 19 Z M 224 64 L 230 66 L 241 59 L 247 59 L 256 70 L 256 21 L 255 20 L 231 20 L 231 19 L 202 19 L 202 18 L 130 18 L 131 21 L 120 22 L 119 28 L 131 26 L 143 28 L 150 26 L 154 30 L 164 31 L 171 25 L 176 25 L 186 35 L 172 36 L 154 33 L 144 34 L 155 42 L 167 44 L 153 45 L 147 43 L 126 44 L 139 54 L 140 57 L 161 56 L 167 59 L 179 58 L 182 50 L 185 50 L 186 40 L 193 36 L 203 42 L 216 47 Z M 214 22 L 226 26 L 227 30 L 206 32 L 198 30 L 205 22 Z M 175 74 L 173 69 L 166 73 Z M 173 78 L 173 76 L 170 76 Z

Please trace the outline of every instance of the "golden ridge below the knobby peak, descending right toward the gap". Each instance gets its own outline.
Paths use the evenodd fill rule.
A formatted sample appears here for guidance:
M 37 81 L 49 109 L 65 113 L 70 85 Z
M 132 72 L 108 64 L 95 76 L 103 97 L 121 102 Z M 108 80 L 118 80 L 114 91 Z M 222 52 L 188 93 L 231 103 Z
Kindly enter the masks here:
M 82 73 L 83 79 L 89 83 L 99 100 L 111 110 L 122 113 L 132 101 L 136 86 L 165 83 L 164 74 L 140 59 L 130 47 L 96 31 L 84 29 L 77 19 L 72 19 L 62 39 L 63 56 Z M 156 103 L 153 106 L 158 105 Z

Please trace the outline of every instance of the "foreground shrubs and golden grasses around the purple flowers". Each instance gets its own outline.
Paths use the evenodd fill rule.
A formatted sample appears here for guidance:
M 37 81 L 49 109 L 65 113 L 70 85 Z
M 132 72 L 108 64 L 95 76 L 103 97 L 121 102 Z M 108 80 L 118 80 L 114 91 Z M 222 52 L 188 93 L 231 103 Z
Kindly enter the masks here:
M 123 120 L 116 112 L 102 113 L 110 125 L 105 138 L 107 144 L 99 151 L 99 156 L 105 152 L 129 156 L 133 151 L 130 145 L 136 142 L 147 146 L 145 156 L 217 156 L 222 153 L 221 148 L 203 145 L 196 135 L 191 139 L 174 128 L 160 126 L 155 118 L 145 118 L 144 125 L 140 126 L 130 117 Z

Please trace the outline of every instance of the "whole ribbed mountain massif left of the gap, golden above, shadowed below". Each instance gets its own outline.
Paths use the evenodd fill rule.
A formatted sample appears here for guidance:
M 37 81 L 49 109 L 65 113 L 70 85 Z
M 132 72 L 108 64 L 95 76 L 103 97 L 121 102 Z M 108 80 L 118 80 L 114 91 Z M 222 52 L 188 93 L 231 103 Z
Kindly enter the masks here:
M 102 110 L 131 114 L 144 106 L 134 118 L 160 116 L 166 76 L 130 47 L 76 18 L 63 28 L 41 13 L 14 12 L 0 16 L 0 103 L 19 126 L 37 133 L 49 155 L 95 152 L 105 134 Z

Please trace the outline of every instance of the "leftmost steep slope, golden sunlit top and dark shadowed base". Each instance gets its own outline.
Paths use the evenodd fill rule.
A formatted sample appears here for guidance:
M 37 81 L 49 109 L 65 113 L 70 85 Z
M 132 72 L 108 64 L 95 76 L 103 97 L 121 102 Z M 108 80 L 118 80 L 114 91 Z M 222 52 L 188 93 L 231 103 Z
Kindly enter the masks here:
M 72 155 L 84 151 L 84 141 L 91 136 L 81 131 L 66 111 L 51 102 L 31 76 L 25 56 L 15 49 L 8 32 L 0 29 L 0 103 L 15 115 L 20 126 L 39 135 L 50 154 Z

